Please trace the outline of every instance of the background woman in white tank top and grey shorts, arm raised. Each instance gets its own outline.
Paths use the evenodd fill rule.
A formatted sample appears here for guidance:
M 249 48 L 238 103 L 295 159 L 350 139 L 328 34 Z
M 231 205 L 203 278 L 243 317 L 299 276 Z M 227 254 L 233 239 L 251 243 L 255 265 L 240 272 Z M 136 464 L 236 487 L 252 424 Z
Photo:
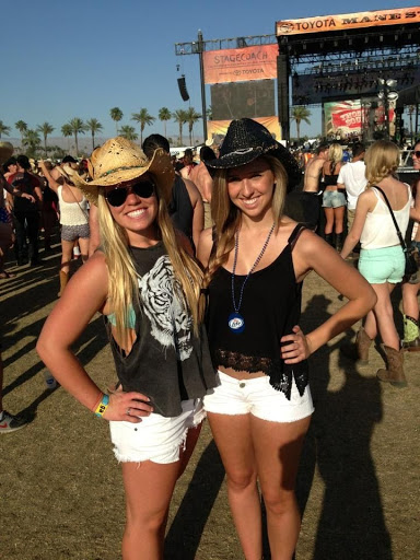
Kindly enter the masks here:
M 73 178 L 77 172 L 70 163 L 66 163 L 62 167 L 59 165 L 55 167 L 57 178 L 52 177 L 51 170 L 43 160 L 38 162 L 38 166 L 48 180 L 49 188 L 58 197 L 61 224 L 60 291 L 58 295 L 61 295 L 69 281 L 74 242 L 79 242 L 83 262 L 88 260 L 90 237 L 88 199 L 74 186 Z

